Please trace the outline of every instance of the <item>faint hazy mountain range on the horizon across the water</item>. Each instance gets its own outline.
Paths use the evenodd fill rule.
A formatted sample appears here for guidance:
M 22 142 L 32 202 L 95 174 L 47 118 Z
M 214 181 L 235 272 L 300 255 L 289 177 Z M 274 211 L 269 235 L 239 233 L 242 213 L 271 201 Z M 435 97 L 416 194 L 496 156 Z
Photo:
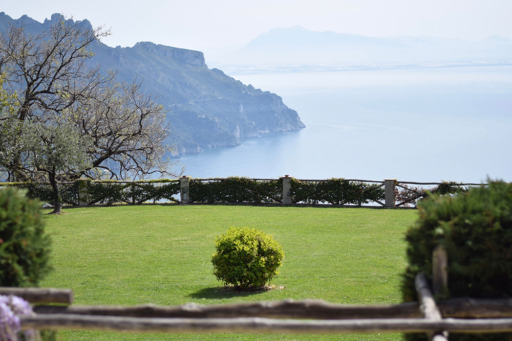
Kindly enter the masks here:
M 274 28 L 244 48 L 212 57 L 218 65 L 321 65 L 512 61 L 512 40 L 483 41 L 428 36 L 367 37 L 296 26 Z

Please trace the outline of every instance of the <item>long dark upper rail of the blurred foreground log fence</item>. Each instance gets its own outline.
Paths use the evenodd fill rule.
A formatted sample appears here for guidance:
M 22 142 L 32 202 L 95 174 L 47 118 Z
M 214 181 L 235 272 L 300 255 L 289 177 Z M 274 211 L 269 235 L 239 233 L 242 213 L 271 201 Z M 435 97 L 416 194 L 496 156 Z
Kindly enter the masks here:
M 417 302 L 395 305 L 343 305 L 321 300 L 263 301 L 226 305 L 199 305 L 187 303 L 179 306 L 49 306 L 37 305 L 36 313 L 79 314 L 130 317 L 269 317 L 275 319 L 393 319 L 419 318 L 422 314 Z M 459 319 L 512 318 L 512 299 L 455 298 L 437 302 L 443 317 Z

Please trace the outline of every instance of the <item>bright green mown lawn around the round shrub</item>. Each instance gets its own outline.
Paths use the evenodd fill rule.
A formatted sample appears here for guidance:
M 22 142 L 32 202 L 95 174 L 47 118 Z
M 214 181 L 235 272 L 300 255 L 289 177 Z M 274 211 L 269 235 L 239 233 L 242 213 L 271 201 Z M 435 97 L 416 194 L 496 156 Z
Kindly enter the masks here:
M 323 299 L 399 303 L 406 266 L 404 232 L 413 210 L 250 206 L 119 206 L 45 216 L 54 271 L 40 285 L 71 288 L 76 305 L 176 305 Z M 212 275 L 215 236 L 229 226 L 258 228 L 281 243 L 285 259 L 272 284 L 240 293 Z M 75 339 L 330 339 L 338 335 L 116 334 L 60 332 Z M 343 335 L 401 339 L 401 335 Z

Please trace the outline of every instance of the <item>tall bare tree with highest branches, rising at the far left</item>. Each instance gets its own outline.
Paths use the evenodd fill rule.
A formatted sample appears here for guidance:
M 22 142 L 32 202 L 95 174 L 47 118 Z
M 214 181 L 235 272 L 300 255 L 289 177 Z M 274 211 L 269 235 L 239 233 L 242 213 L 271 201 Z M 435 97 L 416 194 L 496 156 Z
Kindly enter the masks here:
M 88 70 L 85 61 L 94 54 L 90 46 L 108 35 L 102 28 L 91 30 L 79 21 L 61 20 L 48 31 L 30 34 L 23 25 L 11 26 L 0 34 L 0 73 L 4 86 L 17 95 L 15 118 L 24 122 L 45 122 L 70 107 L 91 89 L 104 83 L 99 69 Z M 2 120 L 10 120 L 4 117 Z M 11 121 L 12 122 L 12 121 Z M 22 129 L 12 137 L 20 139 Z M 30 179 L 24 172 L 21 156 L 9 165 L 9 175 L 16 180 Z

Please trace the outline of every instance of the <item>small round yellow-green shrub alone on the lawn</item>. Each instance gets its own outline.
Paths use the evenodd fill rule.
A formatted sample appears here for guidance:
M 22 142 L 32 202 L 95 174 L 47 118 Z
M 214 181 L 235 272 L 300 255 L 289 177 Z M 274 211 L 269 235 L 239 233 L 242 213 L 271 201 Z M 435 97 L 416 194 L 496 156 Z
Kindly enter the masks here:
M 272 236 L 249 228 L 230 228 L 215 240 L 214 275 L 226 285 L 261 288 L 275 275 L 284 257 Z

